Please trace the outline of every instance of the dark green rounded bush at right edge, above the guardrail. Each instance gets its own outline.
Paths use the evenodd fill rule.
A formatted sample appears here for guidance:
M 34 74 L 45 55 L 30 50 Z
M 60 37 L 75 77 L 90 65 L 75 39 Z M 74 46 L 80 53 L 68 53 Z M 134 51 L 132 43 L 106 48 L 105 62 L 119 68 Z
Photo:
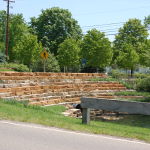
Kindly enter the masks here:
M 137 90 L 150 92 L 150 76 L 139 81 L 137 84 Z

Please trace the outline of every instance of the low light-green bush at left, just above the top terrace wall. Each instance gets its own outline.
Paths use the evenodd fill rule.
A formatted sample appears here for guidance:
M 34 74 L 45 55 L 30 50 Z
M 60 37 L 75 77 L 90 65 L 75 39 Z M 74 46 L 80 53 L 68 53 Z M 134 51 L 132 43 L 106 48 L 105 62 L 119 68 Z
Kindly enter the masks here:
M 2 63 L 0 64 L 0 68 L 8 68 L 13 69 L 18 72 L 29 72 L 29 68 L 23 64 L 15 64 L 15 63 Z

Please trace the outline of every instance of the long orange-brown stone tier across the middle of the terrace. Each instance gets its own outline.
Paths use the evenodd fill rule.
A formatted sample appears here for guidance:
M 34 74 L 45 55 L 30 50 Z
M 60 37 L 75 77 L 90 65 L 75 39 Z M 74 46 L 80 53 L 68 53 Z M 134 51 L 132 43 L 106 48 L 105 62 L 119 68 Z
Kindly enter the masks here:
M 27 86 L 27 87 L 13 87 L 13 88 L 0 88 L 0 93 L 11 93 L 13 95 L 29 95 L 29 94 L 40 94 L 47 92 L 69 92 L 69 91 L 100 91 L 100 90 L 126 90 L 120 84 L 112 85 L 107 84 L 107 87 L 104 85 L 75 85 L 75 84 L 66 84 L 66 85 L 48 85 L 48 86 Z

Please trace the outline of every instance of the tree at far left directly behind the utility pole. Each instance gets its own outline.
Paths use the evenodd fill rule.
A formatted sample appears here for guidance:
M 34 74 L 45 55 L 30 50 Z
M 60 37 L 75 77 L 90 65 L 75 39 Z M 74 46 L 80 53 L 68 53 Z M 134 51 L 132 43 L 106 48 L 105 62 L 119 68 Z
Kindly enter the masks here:
M 9 23 L 9 61 L 14 61 L 13 47 L 16 46 L 18 41 L 28 31 L 28 26 L 25 23 L 22 14 L 10 15 Z M 6 24 L 6 12 L 0 11 L 0 50 L 5 51 L 5 24 Z

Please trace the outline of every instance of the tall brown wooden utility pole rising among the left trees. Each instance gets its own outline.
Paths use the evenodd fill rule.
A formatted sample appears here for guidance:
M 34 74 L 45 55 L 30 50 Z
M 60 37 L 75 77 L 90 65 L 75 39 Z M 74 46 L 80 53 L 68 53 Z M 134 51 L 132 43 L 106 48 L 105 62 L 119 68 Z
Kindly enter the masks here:
M 10 3 L 14 3 L 12 0 L 4 0 L 7 2 L 7 19 L 6 19 L 6 43 L 5 43 L 5 55 L 8 59 L 8 49 L 9 49 L 9 9 Z

